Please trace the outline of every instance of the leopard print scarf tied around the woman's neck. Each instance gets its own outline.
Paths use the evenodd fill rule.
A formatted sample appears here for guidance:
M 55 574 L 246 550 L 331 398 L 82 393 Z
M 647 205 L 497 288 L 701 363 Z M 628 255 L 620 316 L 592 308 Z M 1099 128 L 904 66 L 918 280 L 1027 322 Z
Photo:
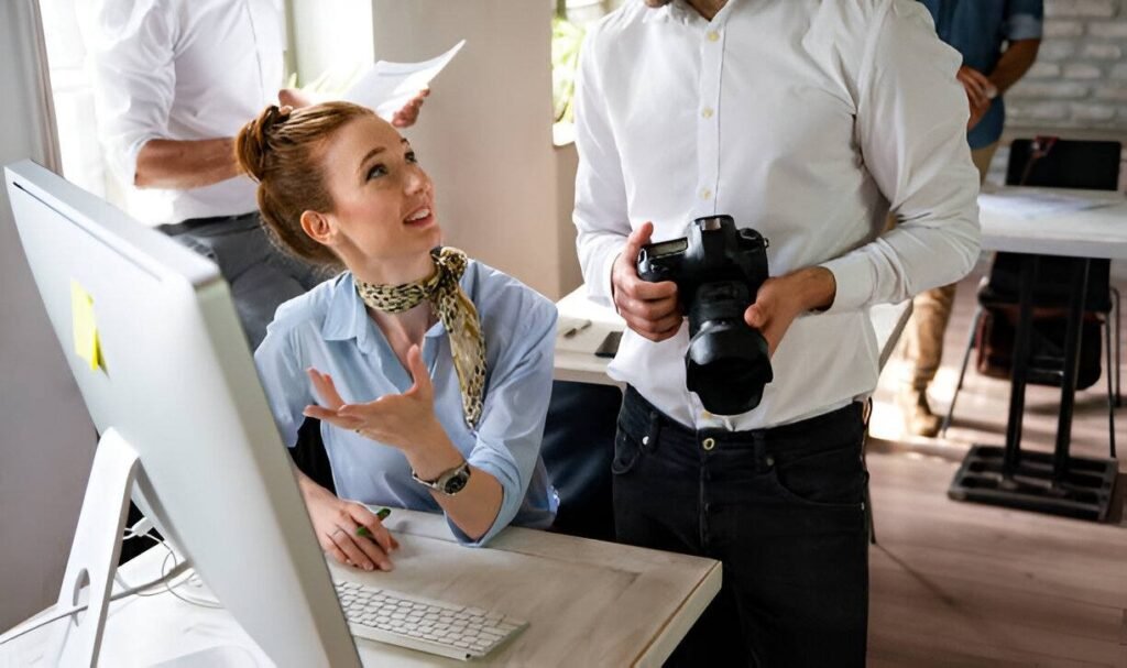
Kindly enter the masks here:
M 458 283 L 465 273 L 468 259 L 456 248 L 436 248 L 431 256 L 435 273 L 428 278 L 403 285 L 375 285 L 356 278 L 356 292 L 366 305 L 384 313 L 408 311 L 423 300 L 431 302 L 450 335 L 454 371 L 462 390 L 462 411 L 465 424 L 472 428 L 481 418 L 486 340 L 481 335 L 478 310 Z

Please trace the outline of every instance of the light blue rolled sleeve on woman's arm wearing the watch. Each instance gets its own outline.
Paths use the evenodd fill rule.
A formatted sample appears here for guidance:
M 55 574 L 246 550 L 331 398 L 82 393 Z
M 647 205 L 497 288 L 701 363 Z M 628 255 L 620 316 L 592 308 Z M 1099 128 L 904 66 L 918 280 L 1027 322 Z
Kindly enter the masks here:
M 477 443 L 467 457 L 500 484 L 500 508 L 477 541 L 447 519 L 464 545 L 482 546 L 513 522 L 536 470 L 551 397 L 557 317 L 551 302 L 539 295 L 536 302 L 531 324 L 504 342 L 508 351 L 502 354 L 486 389 Z

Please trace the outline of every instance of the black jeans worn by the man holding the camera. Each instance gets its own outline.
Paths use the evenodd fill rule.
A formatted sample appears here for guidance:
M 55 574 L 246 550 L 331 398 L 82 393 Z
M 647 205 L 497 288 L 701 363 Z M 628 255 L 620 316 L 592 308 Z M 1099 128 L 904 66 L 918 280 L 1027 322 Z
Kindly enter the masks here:
M 863 667 L 861 404 L 774 429 L 687 429 L 627 390 L 614 444 L 620 542 L 717 559 L 720 594 L 668 665 Z

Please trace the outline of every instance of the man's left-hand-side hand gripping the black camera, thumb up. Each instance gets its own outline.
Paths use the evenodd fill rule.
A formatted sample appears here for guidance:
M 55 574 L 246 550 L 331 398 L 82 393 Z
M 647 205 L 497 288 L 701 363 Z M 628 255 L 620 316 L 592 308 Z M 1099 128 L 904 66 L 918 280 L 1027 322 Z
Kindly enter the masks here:
M 676 283 L 648 283 L 638 277 L 638 251 L 653 233 L 650 222 L 630 233 L 611 269 L 611 287 L 614 308 L 627 326 L 651 341 L 664 341 L 681 329 L 682 315 Z

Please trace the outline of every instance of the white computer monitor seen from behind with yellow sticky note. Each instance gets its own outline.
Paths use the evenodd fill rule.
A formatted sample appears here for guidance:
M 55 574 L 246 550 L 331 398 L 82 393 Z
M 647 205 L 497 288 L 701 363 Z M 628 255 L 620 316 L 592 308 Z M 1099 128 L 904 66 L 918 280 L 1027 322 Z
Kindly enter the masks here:
M 278 666 L 358 666 L 219 269 L 30 161 L 5 180 L 90 417 L 136 453 L 142 511 Z M 121 535 L 98 540 L 116 562 Z

